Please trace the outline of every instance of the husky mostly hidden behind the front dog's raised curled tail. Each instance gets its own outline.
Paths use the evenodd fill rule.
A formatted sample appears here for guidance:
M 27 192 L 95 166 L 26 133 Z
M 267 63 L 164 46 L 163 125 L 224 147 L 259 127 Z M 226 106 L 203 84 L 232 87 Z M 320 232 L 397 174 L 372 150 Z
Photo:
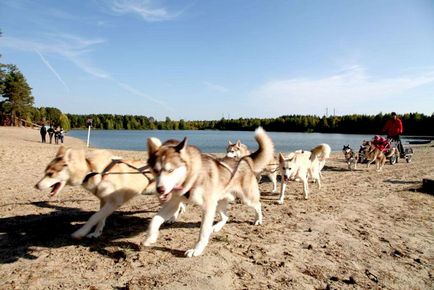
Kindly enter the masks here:
M 241 158 L 247 155 L 250 155 L 250 151 L 246 145 L 241 143 L 240 140 L 237 140 L 237 143 L 232 144 L 231 141 L 228 141 L 228 147 L 226 147 L 226 157 L 231 158 Z M 271 192 L 275 192 L 277 189 L 277 172 L 279 171 L 279 164 L 277 160 L 274 158 L 267 166 L 262 170 L 261 173 L 257 175 L 258 183 L 261 181 L 262 175 L 267 176 L 270 181 L 273 183 L 273 189 Z

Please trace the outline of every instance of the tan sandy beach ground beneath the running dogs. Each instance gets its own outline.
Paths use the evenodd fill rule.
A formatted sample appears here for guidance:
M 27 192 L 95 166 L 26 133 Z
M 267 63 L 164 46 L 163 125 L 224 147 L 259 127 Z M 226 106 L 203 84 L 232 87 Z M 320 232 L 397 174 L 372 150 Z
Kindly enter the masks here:
M 66 135 L 65 145 L 85 144 Z M 333 152 L 321 190 L 309 184 L 309 200 L 292 182 L 279 205 L 263 181 L 264 225 L 252 225 L 254 212 L 234 203 L 228 224 L 196 258 L 183 257 L 199 234 L 193 205 L 162 227 L 154 247 L 140 246 L 159 208 L 154 196 L 115 212 L 99 239 L 71 239 L 99 202 L 80 187 L 51 199 L 34 188 L 58 148 L 42 144 L 38 130 L 0 127 L 0 289 L 434 287 L 434 195 L 418 190 L 422 178 L 434 178 L 432 145 L 413 146 L 411 163 L 387 163 L 380 173 L 366 165 L 348 171 Z

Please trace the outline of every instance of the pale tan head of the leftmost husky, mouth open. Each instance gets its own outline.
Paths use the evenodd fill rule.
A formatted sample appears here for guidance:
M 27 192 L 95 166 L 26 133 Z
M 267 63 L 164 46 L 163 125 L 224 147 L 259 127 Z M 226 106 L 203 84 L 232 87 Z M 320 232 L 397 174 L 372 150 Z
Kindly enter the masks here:
M 83 162 L 86 162 L 84 152 L 61 146 L 56 157 L 45 168 L 44 176 L 35 187 L 39 190 L 51 188 L 50 196 L 54 196 L 66 184 L 80 185 L 87 170 L 87 166 L 86 164 L 83 166 Z

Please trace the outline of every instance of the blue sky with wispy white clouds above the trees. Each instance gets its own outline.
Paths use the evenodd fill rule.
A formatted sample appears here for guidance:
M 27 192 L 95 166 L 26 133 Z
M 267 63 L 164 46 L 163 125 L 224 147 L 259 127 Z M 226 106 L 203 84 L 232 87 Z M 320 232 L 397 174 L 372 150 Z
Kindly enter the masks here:
M 37 107 L 157 120 L 434 112 L 431 0 L 0 0 Z

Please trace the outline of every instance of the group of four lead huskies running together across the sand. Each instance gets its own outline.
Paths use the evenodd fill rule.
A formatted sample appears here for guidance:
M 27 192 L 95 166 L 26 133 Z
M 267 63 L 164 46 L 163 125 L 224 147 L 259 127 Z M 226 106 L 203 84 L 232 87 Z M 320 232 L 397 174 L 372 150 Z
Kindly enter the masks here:
M 65 185 L 81 185 L 100 200 L 100 210 L 72 233 L 75 239 L 99 237 L 106 218 L 116 209 L 136 195 L 156 193 L 161 208 L 152 218 L 143 242 L 144 246 L 151 246 L 164 222 L 175 221 L 185 211 L 185 204 L 197 204 L 202 208 L 199 239 L 185 256 L 198 256 L 211 234 L 220 231 L 228 221 L 227 206 L 236 198 L 253 208 L 254 225 L 262 224 L 258 186 L 262 175 L 270 178 L 275 192 L 280 173 L 279 204 L 283 204 L 290 180 L 303 183 L 305 199 L 309 194 L 308 179 L 321 187 L 321 170 L 330 156 L 329 145 L 320 144 L 310 151 L 298 150 L 287 156 L 279 153 L 276 160 L 273 142 L 261 127 L 256 129 L 255 139 L 259 145 L 255 152 L 251 153 L 240 141 L 229 141 L 226 156 L 216 158 L 189 145 L 187 138 L 165 142 L 149 138 L 147 161 L 121 159 L 105 150 L 85 153 L 62 146 L 35 187 L 50 188 L 53 196 Z M 213 224 L 217 213 L 220 220 Z

